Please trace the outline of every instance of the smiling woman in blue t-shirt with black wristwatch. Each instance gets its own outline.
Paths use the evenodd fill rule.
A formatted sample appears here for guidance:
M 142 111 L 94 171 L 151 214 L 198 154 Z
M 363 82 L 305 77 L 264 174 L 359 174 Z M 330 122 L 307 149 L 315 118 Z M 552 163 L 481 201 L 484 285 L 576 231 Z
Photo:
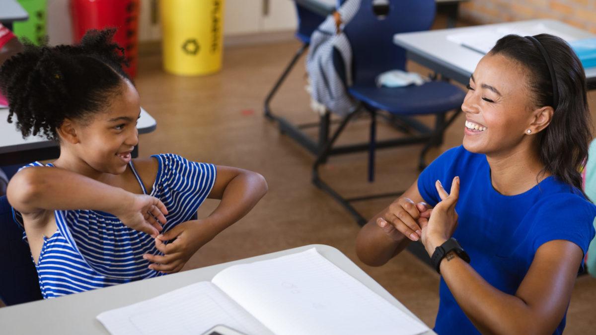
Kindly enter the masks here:
M 578 172 L 591 138 L 583 67 L 555 36 L 505 36 L 462 110 L 463 145 L 362 228 L 358 256 L 382 265 L 421 240 L 442 275 L 439 334 L 561 334 L 596 216 Z

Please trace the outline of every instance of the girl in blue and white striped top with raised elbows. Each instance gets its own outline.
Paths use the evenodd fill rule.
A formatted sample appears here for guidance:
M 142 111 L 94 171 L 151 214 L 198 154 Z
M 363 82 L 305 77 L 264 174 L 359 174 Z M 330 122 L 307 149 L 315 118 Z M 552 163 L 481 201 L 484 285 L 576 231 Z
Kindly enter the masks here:
M 44 298 L 180 271 L 267 189 L 257 173 L 175 154 L 131 159 L 139 95 L 113 35 L 28 45 L 0 70 L 9 121 L 60 142 L 57 160 L 21 169 L 7 191 Z M 193 219 L 207 197 L 221 203 Z

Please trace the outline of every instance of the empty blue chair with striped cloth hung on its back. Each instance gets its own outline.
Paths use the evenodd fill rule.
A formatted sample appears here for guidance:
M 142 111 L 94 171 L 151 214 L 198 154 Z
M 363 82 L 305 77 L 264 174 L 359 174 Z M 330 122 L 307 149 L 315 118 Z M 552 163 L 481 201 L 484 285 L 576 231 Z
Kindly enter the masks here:
M 373 5 L 373 2 L 377 7 Z M 378 4 L 381 3 L 381 6 Z M 384 5 L 383 5 L 384 3 Z M 388 70 L 405 69 L 405 50 L 393 44 L 393 35 L 403 32 L 428 30 L 433 23 L 436 13 L 434 0 L 362 0 L 362 4 L 355 17 L 346 25 L 344 32 L 350 41 L 353 52 L 353 85 L 349 87 L 349 94 L 361 103 L 361 111 L 368 111 L 371 115 L 370 141 L 364 150 L 368 155 L 368 179 L 374 179 L 374 156 L 377 148 L 395 147 L 398 145 L 424 143 L 420 153 L 419 167 L 426 166 L 424 155 L 433 146 L 440 145 L 443 132 L 455 117 L 461 112 L 461 104 L 465 93 L 455 85 L 444 80 L 434 80 L 421 86 L 407 86 L 403 88 L 378 88 L 375 78 Z M 377 17 L 375 10 L 387 11 L 383 18 Z M 338 57 L 335 57 L 338 59 Z M 340 70 L 342 66 L 336 66 Z M 387 118 L 396 123 L 397 128 L 405 128 L 417 132 L 405 138 L 391 139 L 377 142 L 376 126 L 378 111 L 386 111 Z M 446 113 L 456 110 L 446 120 Z M 344 127 L 357 112 L 344 117 L 339 128 L 331 136 L 324 150 L 319 153 L 313 165 L 313 183 L 331 196 L 336 198 L 354 216 L 359 224 L 364 225 L 364 219 L 350 204 L 352 201 L 367 200 L 398 194 L 380 194 L 376 196 L 346 199 L 319 178 L 318 168 L 333 153 L 333 144 Z M 411 119 L 410 116 L 435 114 L 434 129 L 424 126 Z M 362 147 L 361 147 L 362 148 Z M 353 150 L 356 151 L 356 150 Z

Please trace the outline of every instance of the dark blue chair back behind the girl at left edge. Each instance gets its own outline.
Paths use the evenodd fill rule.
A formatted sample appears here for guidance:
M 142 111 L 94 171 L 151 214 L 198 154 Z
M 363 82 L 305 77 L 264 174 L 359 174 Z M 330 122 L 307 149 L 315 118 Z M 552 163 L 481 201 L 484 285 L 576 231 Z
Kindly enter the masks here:
M 29 245 L 22 237 L 6 196 L 0 197 L 0 299 L 7 306 L 42 299 Z

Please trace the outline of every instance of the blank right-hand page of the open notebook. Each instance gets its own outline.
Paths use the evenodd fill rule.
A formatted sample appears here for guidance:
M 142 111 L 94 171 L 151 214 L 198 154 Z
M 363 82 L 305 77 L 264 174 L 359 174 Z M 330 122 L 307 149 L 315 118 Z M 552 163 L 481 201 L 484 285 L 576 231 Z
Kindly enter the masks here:
M 314 248 L 231 266 L 212 283 L 278 335 L 420 334 L 429 329 Z

